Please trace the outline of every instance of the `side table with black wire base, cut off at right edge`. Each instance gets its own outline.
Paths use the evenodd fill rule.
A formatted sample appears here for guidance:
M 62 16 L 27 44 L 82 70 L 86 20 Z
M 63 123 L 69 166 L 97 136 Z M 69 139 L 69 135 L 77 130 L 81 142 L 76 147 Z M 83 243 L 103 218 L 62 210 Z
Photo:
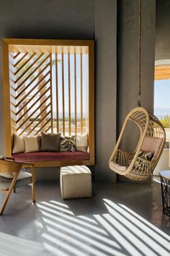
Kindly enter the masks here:
M 163 213 L 170 216 L 170 171 L 160 171 Z

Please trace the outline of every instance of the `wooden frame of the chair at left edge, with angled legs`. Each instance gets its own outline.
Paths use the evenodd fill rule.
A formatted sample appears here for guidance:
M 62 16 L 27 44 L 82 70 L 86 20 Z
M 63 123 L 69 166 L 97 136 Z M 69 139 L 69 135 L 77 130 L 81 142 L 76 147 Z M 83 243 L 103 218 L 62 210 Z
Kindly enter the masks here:
M 14 158 L 6 157 L 5 160 L 0 160 L 0 173 L 6 174 L 14 174 L 14 178 L 12 179 L 12 183 L 9 186 L 9 189 L 0 189 L 1 192 L 4 192 L 6 195 L 4 197 L 4 201 L 2 202 L 0 208 L 0 216 L 4 213 L 4 209 L 6 208 L 7 202 L 9 200 L 10 195 L 12 194 L 12 189 L 15 192 L 15 183 L 17 182 L 17 177 L 19 175 L 19 171 L 25 163 L 13 161 Z M 32 202 L 35 202 L 35 168 L 34 163 L 27 163 L 27 168 L 31 169 L 32 174 Z

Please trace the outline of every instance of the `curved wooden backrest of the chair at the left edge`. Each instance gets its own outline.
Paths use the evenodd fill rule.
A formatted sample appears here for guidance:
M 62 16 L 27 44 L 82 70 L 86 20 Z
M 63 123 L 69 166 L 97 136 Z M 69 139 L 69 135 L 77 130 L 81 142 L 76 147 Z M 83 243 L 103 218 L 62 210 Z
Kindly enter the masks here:
M 0 173 L 12 174 L 18 173 L 22 168 L 22 163 L 14 161 L 0 160 Z

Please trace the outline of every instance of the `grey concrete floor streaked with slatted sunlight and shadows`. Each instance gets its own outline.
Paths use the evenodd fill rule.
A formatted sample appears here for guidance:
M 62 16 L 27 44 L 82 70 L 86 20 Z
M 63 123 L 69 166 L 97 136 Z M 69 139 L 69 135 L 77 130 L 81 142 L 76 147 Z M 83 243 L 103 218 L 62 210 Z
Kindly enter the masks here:
M 0 199 L 2 196 L 0 197 Z M 0 255 L 170 255 L 160 184 L 94 182 L 93 197 L 62 200 L 58 182 L 17 189 L 0 217 Z

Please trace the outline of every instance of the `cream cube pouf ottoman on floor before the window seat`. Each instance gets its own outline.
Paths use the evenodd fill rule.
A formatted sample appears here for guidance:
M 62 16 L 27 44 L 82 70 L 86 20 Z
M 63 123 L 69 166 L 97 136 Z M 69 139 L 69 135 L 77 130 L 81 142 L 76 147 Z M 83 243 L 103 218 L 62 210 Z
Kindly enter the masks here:
M 86 166 L 61 167 L 61 195 L 63 199 L 92 196 L 91 171 Z

